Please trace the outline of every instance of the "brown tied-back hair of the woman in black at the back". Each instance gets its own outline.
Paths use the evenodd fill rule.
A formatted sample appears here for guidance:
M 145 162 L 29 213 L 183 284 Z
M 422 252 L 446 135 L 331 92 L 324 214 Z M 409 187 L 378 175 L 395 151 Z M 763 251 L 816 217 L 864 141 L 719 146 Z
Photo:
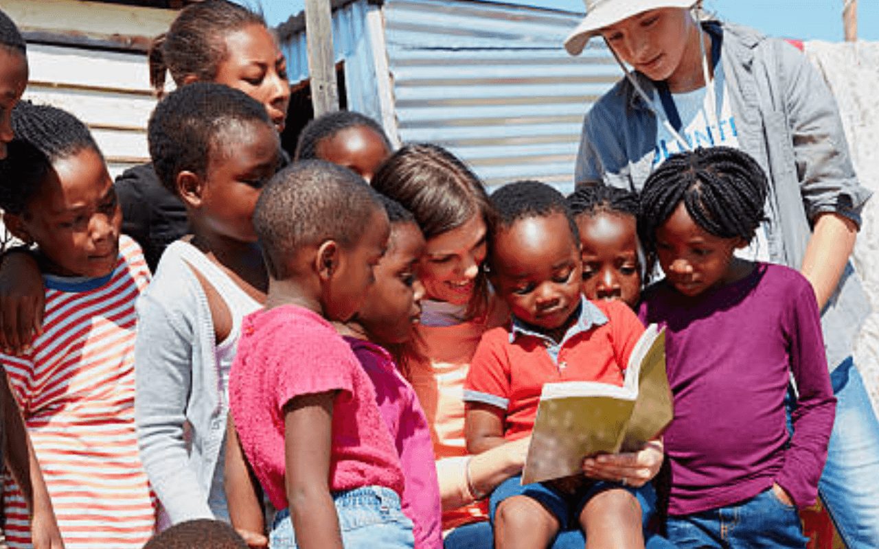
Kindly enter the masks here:
M 149 47 L 149 83 L 161 97 L 165 72 L 178 86 L 186 76 L 197 81 L 214 80 L 227 55 L 225 35 L 249 25 L 265 25 L 258 13 L 228 0 L 205 0 L 186 6 Z

